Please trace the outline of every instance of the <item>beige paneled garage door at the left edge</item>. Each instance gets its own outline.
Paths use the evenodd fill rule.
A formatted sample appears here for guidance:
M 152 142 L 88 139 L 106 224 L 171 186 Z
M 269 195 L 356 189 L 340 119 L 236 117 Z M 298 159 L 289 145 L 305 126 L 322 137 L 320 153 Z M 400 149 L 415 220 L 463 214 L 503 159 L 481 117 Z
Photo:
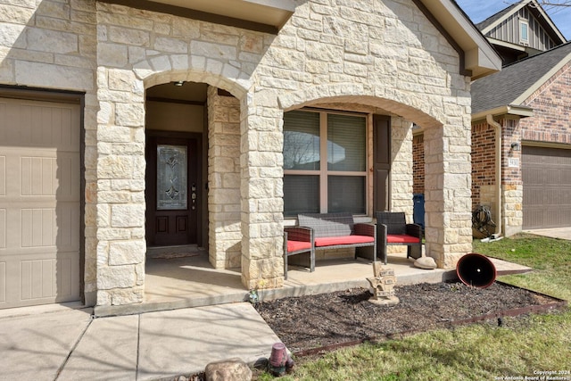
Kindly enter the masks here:
M 0 98 L 0 309 L 77 301 L 79 105 Z

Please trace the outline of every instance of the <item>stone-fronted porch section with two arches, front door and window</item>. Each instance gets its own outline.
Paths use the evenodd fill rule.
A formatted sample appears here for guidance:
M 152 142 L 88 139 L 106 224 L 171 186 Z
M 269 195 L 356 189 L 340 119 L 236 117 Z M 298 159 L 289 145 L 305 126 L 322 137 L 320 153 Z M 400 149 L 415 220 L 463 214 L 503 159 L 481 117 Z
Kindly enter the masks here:
M 301 2 L 274 36 L 112 3 L 96 9 L 98 30 L 118 33 L 97 35 L 99 109 L 86 127 L 85 288 L 95 314 L 237 302 L 253 288 L 270 297 L 367 286 L 370 263 L 335 269 L 333 260 L 285 281 L 284 227 L 300 212 L 410 216 L 415 124 L 426 131 L 426 255 L 440 268 L 429 272 L 471 251 L 469 86 L 500 60 L 483 37 L 465 35 L 473 25 L 461 15 L 434 9 L 454 21 L 449 37 L 418 4 L 379 2 L 363 23 L 343 14 L 357 6 L 313 14 Z M 125 25 L 141 17 L 153 27 Z M 131 32 L 143 39 L 121 37 Z M 187 83 L 200 101 L 162 91 Z M 207 251 L 180 265 L 146 255 L 181 243 Z

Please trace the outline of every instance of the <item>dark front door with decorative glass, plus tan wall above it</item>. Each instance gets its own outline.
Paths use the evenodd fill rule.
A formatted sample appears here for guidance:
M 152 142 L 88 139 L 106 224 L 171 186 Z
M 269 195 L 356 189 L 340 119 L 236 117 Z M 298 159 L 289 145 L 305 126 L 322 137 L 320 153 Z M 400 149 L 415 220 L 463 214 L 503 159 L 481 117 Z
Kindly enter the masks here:
M 204 247 L 207 87 L 178 81 L 146 91 L 147 255 Z

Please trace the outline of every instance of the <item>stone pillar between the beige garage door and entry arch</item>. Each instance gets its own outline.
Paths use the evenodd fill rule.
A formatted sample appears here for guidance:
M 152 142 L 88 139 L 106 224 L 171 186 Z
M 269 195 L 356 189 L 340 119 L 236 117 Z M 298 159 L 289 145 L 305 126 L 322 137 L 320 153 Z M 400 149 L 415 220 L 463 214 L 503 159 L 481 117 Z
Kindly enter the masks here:
M 97 305 L 143 302 L 145 97 L 130 70 L 97 71 Z

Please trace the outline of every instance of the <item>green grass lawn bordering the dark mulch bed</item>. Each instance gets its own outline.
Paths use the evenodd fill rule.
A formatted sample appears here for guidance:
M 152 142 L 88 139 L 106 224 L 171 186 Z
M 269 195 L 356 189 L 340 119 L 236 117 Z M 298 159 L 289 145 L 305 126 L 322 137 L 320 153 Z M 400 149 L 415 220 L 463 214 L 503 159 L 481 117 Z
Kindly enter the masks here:
M 475 241 L 473 252 L 534 269 L 498 280 L 571 300 L 569 241 L 520 235 L 492 243 Z M 294 372 L 280 379 L 497 380 L 538 377 L 542 371 L 571 371 L 569 308 L 507 318 L 502 327 L 484 322 L 296 359 Z M 571 381 L 568 373 L 553 376 Z M 258 379 L 272 377 L 263 374 Z

